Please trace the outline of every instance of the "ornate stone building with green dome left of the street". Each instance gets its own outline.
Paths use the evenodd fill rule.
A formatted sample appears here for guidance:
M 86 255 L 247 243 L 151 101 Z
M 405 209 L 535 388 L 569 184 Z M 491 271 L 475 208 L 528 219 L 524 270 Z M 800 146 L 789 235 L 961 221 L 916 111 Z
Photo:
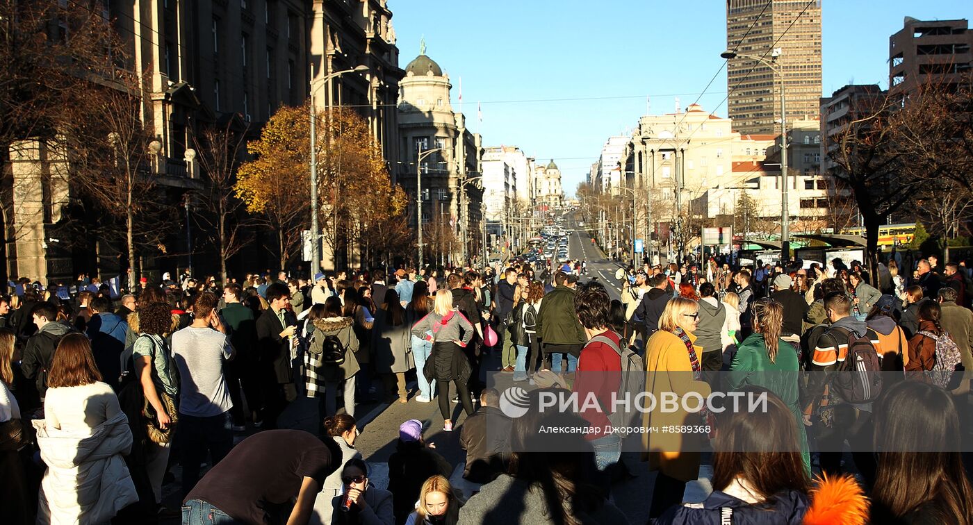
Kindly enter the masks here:
M 450 76 L 426 55 L 425 42 L 405 71 L 399 81 L 396 182 L 410 197 L 410 227 L 417 220 L 416 187 L 422 191 L 424 253 L 449 254 L 450 261 L 459 262 L 479 253 L 483 190 L 469 180 L 481 173 L 480 135 L 452 110 Z

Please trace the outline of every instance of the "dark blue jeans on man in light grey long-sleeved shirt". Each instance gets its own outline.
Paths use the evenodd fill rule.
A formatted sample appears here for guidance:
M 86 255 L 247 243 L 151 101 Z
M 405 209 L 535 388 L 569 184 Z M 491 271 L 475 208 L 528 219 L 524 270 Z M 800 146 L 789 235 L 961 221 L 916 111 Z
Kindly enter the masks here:
M 206 461 L 206 452 L 213 459 L 213 467 L 234 447 L 230 411 L 222 414 L 197 417 L 179 414 L 176 434 L 182 447 L 182 495 L 185 498 L 199 480 L 199 465 Z

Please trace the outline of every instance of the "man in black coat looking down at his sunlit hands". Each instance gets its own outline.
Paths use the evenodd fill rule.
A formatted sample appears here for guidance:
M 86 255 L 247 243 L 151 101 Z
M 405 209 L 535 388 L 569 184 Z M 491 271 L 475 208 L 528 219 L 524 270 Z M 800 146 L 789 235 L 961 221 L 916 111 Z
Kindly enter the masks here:
M 291 368 L 291 346 L 297 340 L 298 320 L 288 308 L 290 300 L 286 285 L 271 283 L 267 287 L 270 309 L 257 320 L 258 361 L 267 403 L 264 422 L 270 428 L 276 428 L 277 416 L 298 397 Z

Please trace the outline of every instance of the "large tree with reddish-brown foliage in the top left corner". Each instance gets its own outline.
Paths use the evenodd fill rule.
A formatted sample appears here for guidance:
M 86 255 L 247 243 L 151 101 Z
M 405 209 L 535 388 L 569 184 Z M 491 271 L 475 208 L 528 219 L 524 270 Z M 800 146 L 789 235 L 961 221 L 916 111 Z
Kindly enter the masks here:
M 0 209 L 8 248 L 36 226 L 33 219 L 23 219 L 24 212 L 34 213 L 24 210 L 17 196 L 41 194 L 50 184 L 63 189 L 66 199 L 68 184 L 67 170 L 54 169 L 49 179 L 45 173 L 14 180 L 8 169 L 11 158 L 43 145 L 64 164 L 75 161 L 65 133 L 99 103 L 90 94 L 112 79 L 122 49 L 117 44 L 110 20 L 100 10 L 76 9 L 57 0 L 0 0 Z M 59 206 L 53 198 L 45 200 L 51 201 L 56 221 Z

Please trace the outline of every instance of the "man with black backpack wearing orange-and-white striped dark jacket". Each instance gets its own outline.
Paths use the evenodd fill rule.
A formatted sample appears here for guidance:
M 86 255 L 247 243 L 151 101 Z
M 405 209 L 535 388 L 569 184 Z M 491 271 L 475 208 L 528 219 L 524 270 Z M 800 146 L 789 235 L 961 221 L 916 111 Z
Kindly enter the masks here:
M 822 471 L 840 473 L 847 440 L 858 472 L 871 487 L 876 469 L 875 456 L 869 452 L 872 403 L 882 393 L 879 336 L 850 315 L 851 298 L 846 294 L 824 297 L 824 308 L 831 327 L 818 337 L 811 355 L 805 424 L 817 428 Z

